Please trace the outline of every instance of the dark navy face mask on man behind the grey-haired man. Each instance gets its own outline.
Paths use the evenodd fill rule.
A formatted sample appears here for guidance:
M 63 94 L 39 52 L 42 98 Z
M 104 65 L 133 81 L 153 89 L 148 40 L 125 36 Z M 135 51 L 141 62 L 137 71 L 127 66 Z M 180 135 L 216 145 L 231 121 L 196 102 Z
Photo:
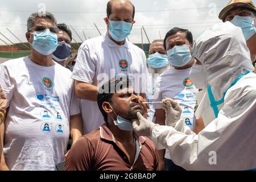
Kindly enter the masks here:
M 71 53 L 71 46 L 65 41 L 60 42 L 56 51 L 52 53 L 52 57 L 55 61 L 64 61 Z

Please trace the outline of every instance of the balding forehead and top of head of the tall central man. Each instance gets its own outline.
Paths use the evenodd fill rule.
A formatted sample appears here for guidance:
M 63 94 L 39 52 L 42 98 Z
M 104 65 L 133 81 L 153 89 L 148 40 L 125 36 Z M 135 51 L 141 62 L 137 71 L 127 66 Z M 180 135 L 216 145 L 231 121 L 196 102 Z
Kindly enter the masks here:
M 114 10 L 119 11 L 131 11 L 131 16 L 134 19 L 135 15 L 135 7 L 133 3 L 131 3 L 129 0 L 110 0 L 107 5 L 107 16 L 109 16 L 113 13 Z

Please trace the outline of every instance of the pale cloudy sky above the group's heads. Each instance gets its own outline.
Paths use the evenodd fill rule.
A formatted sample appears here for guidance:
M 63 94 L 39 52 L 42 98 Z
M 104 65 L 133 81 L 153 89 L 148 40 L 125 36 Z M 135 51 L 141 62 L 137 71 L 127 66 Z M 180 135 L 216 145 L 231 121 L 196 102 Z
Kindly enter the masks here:
M 18 40 L 7 31 L 6 27 L 19 39 L 26 41 L 24 34 L 27 18 L 32 12 L 38 11 L 41 5 L 55 14 L 58 23 L 67 23 L 75 28 L 82 40 L 85 39 L 82 31 L 90 38 L 99 35 L 94 23 L 101 32 L 106 31 L 103 18 L 106 16 L 108 0 L 0 0 L 0 2 L 0 32 L 11 42 L 16 43 Z M 218 14 L 229 0 L 131 0 L 131 2 L 134 3 L 136 10 L 136 23 L 129 39 L 133 43 L 141 43 L 142 26 L 150 42 L 164 38 L 166 32 L 173 27 L 188 28 L 196 39 L 206 28 L 220 22 Z M 253 2 L 256 3 L 256 0 Z M 73 36 L 75 40 L 81 42 L 75 32 Z M 0 39 L 9 43 L 2 35 Z M 144 33 L 143 42 L 148 42 Z

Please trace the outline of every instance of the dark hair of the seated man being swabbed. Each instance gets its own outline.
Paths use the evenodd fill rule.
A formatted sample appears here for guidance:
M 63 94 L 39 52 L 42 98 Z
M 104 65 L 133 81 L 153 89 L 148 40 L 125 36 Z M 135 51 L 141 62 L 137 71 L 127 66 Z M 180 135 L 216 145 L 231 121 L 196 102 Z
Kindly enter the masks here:
M 103 102 L 112 103 L 113 94 L 118 92 L 119 90 L 129 88 L 130 84 L 131 84 L 131 81 L 127 76 L 123 76 L 123 77 L 116 76 L 114 78 L 111 78 L 109 81 L 105 82 L 102 86 L 99 86 L 98 94 L 97 94 L 97 103 L 98 103 L 98 108 L 100 109 L 105 122 L 108 121 L 108 114 L 106 114 L 104 109 L 102 108 Z

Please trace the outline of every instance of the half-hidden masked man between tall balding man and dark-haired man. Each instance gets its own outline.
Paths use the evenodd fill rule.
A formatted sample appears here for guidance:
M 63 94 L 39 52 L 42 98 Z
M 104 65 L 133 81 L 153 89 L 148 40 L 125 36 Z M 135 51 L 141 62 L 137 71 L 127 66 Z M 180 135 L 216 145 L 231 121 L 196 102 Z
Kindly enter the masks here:
M 147 69 L 150 73 L 150 81 L 147 82 L 147 102 L 154 102 L 154 86 L 156 78 L 170 68 L 166 49 L 163 46 L 163 39 L 154 40 L 148 52 Z M 149 104 L 147 119 L 155 122 L 156 114 L 153 104 Z

